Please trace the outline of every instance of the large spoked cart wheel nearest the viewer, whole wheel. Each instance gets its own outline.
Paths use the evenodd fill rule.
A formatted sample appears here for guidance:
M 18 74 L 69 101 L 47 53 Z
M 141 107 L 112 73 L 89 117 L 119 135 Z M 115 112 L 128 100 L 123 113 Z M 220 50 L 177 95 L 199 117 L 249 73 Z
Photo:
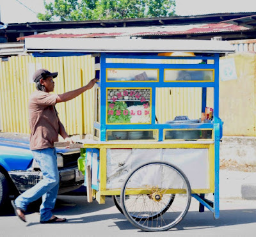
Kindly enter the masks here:
M 166 231 L 188 212 L 191 188 L 179 168 L 148 162 L 129 174 L 120 198 L 124 215 L 134 226 L 143 231 Z M 170 199 L 172 206 L 168 206 Z

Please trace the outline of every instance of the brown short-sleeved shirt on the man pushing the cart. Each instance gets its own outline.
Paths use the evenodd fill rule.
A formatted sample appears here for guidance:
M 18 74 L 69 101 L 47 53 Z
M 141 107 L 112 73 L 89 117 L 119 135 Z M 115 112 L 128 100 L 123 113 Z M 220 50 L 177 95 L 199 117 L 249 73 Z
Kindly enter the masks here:
M 35 91 L 29 98 L 30 149 L 53 148 L 58 141 L 59 119 L 54 107 L 58 95 Z

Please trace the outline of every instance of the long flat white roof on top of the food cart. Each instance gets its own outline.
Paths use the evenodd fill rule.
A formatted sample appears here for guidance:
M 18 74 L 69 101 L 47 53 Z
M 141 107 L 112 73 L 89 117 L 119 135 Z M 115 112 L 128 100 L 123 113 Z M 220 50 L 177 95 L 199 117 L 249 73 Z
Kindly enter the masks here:
M 27 52 L 198 52 L 232 53 L 227 41 L 129 38 L 26 38 Z

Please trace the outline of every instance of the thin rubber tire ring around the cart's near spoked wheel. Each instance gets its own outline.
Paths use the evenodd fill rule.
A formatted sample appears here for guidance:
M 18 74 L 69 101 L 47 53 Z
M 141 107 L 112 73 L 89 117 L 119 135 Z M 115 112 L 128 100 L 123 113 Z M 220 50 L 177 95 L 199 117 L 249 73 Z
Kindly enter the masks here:
M 180 176 L 182 176 L 184 182 L 186 183 L 186 186 L 188 188 L 188 203 L 186 205 L 186 208 L 184 210 L 184 212 L 182 213 L 182 215 L 179 217 L 179 220 L 177 220 L 174 224 L 172 225 L 168 225 L 168 226 L 165 226 L 165 227 L 161 227 L 159 229 L 157 228 L 148 228 L 148 227 L 143 227 L 143 226 L 140 226 L 139 224 L 136 223 L 136 218 L 134 217 L 131 217 L 131 215 L 129 215 L 128 211 L 126 210 L 125 208 L 125 204 L 124 204 L 124 197 L 125 197 L 125 190 L 126 190 L 126 185 L 127 183 L 129 182 L 131 176 L 136 172 L 138 171 L 139 169 L 141 169 L 142 167 L 145 167 L 147 165 L 151 165 L 151 164 L 163 164 L 163 165 L 167 165 L 167 166 L 170 166 L 172 167 L 172 169 L 174 169 L 175 171 L 177 171 Z M 139 229 L 141 229 L 142 231 L 148 231 L 148 232 L 151 232 L 151 231 L 167 231 L 168 229 L 171 229 L 172 227 L 176 226 L 185 216 L 186 214 L 188 213 L 188 210 L 189 210 L 189 206 L 190 206 L 190 203 L 191 203 L 191 187 L 190 187 L 190 184 L 189 184 L 189 181 L 188 181 L 188 178 L 186 177 L 186 175 L 184 174 L 184 172 L 182 172 L 177 166 L 175 165 L 172 165 L 168 162 L 159 162 L 159 161 L 156 161 L 156 162 L 147 162 L 143 165 L 140 165 L 139 167 L 137 167 L 136 169 L 134 169 L 126 178 L 126 180 L 124 181 L 124 184 L 123 184 L 123 187 L 121 189 L 121 206 L 122 206 L 122 210 L 124 211 L 124 215 L 125 217 L 127 218 L 127 220 L 129 220 L 129 222 L 131 222 L 132 225 L 138 227 Z M 166 209 L 168 210 L 168 208 Z M 165 210 L 165 211 L 166 211 Z M 164 212 L 165 212 L 164 211 Z

